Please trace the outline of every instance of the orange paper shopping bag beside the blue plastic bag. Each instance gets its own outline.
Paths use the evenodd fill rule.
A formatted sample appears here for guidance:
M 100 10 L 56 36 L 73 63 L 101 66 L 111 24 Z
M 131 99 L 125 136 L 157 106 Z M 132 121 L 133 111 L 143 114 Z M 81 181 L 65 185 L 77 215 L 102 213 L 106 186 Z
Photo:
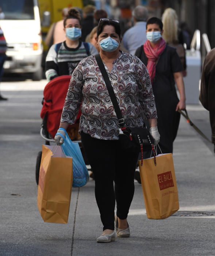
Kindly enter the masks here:
M 72 158 L 61 146 L 43 145 L 37 204 L 45 222 L 68 222 L 72 182 Z

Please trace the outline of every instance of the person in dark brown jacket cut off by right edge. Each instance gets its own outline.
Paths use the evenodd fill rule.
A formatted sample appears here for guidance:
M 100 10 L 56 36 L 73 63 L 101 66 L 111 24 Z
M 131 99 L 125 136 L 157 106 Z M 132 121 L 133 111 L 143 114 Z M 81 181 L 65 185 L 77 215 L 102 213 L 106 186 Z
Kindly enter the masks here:
M 206 56 L 201 74 L 200 102 L 209 111 L 211 123 L 211 140 L 215 153 L 215 48 Z

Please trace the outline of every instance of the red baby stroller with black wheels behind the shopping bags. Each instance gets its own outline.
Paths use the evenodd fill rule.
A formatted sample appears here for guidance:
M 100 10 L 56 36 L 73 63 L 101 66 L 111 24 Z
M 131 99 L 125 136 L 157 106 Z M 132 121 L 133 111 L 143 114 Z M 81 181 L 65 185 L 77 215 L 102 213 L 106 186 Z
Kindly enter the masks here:
M 41 137 L 45 140 L 46 145 L 50 145 L 50 142 L 54 141 L 54 136 L 59 128 L 61 113 L 64 106 L 66 94 L 69 87 L 71 76 L 64 75 L 59 76 L 49 83 L 46 84 L 43 95 L 43 107 L 41 110 L 41 118 L 43 119 L 41 125 Z M 78 134 L 79 119 L 81 116 L 81 111 L 78 113 L 76 123 L 74 125 L 69 125 L 67 132 L 71 140 L 79 143 L 82 155 L 84 157 L 85 163 L 87 159 L 81 147 L 81 138 Z M 36 182 L 39 183 L 39 168 L 42 158 L 42 151 L 39 151 L 36 162 Z

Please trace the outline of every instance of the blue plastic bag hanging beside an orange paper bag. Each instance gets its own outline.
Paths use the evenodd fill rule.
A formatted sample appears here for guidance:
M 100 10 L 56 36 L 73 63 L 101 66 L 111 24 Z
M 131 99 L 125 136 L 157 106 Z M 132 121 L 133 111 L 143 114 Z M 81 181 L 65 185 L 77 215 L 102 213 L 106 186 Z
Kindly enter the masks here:
M 89 181 L 88 169 L 85 165 L 84 158 L 82 157 L 80 147 L 78 143 L 72 142 L 70 140 L 68 133 L 64 128 L 60 128 L 64 131 L 66 136 L 64 137 L 61 133 L 56 135 L 61 135 L 64 138 L 64 143 L 61 145 L 64 154 L 68 157 L 72 157 L 73 161 L 73 187 L 83 187 Z

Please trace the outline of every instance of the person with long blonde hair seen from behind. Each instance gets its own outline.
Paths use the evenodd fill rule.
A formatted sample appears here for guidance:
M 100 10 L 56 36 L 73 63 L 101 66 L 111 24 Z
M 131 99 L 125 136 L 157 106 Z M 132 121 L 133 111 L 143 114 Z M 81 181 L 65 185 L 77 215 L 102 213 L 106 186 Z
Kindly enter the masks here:
M 184 49 L 184 41 L 180 41 L 183 40 L 183 34 L 181 30 L 178 29 L 178 16 L 176 11 L 172 8 L 167 8 L 162 15 L 162 22 L 164 24 L 164 33 L 162 34 L 162 37 L 164 38 L 166 44 L 176 48 L 184 68 L 182 72 L 183 76 L 186 76 L 186 53 Z

